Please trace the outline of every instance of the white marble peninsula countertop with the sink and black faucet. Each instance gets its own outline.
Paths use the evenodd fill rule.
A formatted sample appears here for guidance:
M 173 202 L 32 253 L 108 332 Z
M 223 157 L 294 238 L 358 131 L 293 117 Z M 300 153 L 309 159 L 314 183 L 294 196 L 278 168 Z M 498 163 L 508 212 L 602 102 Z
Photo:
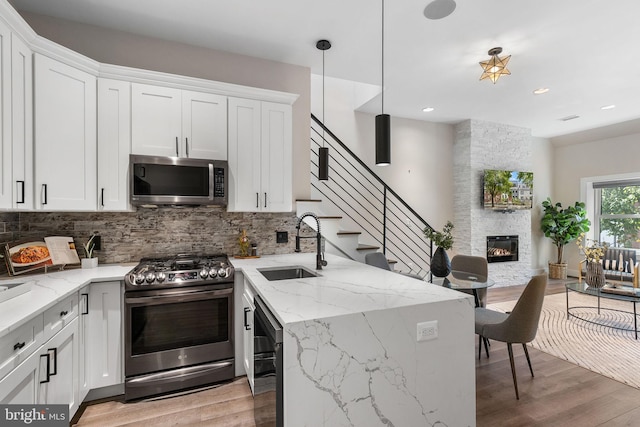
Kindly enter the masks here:
M 232 258 L 284 326 L 289 323 L 375 310 L 471 298 L 467 294 L 327 255 L 328 265 L 315 270 L 315 253 Z M 302 266 L 318 277 L 268 281 L 259 268 Z

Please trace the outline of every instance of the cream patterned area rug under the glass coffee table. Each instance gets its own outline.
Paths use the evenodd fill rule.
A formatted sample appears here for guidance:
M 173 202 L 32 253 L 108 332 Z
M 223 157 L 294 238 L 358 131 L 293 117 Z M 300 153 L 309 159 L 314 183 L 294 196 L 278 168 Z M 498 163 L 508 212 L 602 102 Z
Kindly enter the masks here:
M 600 301 L 601 310 L 598 314 L 597 298 L 569 293 L 570 306 L 577 307 L 571 313 L 606 325 L 633 329 L 632 303 L 604 298 Z M 507 312 L 515 303 L 489 304 L 487 308 Z M 531 346 L 640 389 L 640 340 L 635 339 L 634 332 L 595 325 L 574 317 L 567 319 L 564 293 L 545 297 L 538 334 Z

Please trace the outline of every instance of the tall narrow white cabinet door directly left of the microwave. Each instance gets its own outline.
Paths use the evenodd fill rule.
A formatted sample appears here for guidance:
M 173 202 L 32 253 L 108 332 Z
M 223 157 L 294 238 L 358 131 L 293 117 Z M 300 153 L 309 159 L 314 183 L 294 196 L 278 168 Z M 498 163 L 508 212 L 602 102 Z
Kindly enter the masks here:
M 98 79 L 98 209 L 129 206 L 131 84 Z

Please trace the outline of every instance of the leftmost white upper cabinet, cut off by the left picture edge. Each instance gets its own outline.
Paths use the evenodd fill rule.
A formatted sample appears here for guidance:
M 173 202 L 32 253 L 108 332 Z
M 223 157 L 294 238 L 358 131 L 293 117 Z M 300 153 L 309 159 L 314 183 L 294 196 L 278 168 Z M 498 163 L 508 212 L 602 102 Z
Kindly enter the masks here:
M 2 22 L 0 81 L 0 209 L 32 209 L 32 55 Z

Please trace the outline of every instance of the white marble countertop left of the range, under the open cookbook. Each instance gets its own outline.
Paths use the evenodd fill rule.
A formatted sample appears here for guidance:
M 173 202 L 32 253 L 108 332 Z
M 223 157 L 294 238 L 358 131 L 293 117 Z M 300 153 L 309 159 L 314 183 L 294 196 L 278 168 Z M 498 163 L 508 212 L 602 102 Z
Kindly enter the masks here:
M 0 302 L 0 337 L 42 313 L 91 282 L 123 280 L 136 263 L 74 268 L 46 274 L 16 276 L 0 280 L 0 285 L 30 283 L 31 290 Z

